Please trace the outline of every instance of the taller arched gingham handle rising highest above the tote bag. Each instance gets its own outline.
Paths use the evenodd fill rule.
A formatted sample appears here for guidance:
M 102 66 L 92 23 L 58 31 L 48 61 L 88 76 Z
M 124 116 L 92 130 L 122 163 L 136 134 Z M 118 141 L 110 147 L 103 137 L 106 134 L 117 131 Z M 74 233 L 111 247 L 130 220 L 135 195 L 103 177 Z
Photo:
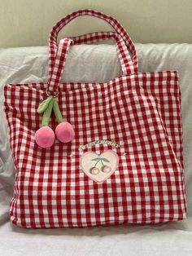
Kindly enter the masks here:
M 120 34 L 120 37 L 123 38 L 126 46 L 129 49 L 129 52 L 132 54 L 133 59 L 133 68 L 134 73 L 137 73 L 138 71 L 138 64 L 137 64 L 137 51 L 135 49 L 135 46 L 133 45 L 133 42 L 131 38 L 129 37 L 129 34 L 126 32 L 126 30 L 122 27 L 122 25 L 114 18 L 112 18 L 109 15 L 105 15 L 102 12 L 94 11 L 90 9 L 83 9 L 74 11 L 71 14 L 65 16 L 62 20 L 59 20 L 57 24 L 53 27 L 53 29 L 50 32 L 50 38 L 49 38 L 49 46 L 50 46 L 50 67 L 49 67 L 49 73 L 51 75 L 51 70 L 53 70 L 54 64 L 55 64 L 55 55 L 57 52 L 57 38 L 58 33 L 63 27 L 68 24 L 71 20 L 75 19 L 78 16 L 81 15 L 91 15 L 94 17 L 97 17 L 102 20 L 106 20 L 108 24 L 110 24 L 113 29 L 115 29 L 116 33 Z

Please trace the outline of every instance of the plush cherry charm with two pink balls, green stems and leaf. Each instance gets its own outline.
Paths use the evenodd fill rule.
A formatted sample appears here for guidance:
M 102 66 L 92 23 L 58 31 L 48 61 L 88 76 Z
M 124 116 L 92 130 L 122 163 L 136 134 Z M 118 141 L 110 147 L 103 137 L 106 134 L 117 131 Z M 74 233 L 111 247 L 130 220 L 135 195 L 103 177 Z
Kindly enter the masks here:
M 50 115 L 54 110 L 56 121 L 59 125 L 56 126 L 55 133 L 49 126 Z M 35 133 L 35 141 L 41 148 L 50 148 L 55 142 L 55 135 L 59 141 L 68 143 L 72 141 L 75 132 L 72 125 L 68 121 L 63 121 L 63 117 L 59 110 L 59 104 L 55 97 L 49 96 L 37 108 L 37 113 L 43 113 L 41 128 Z

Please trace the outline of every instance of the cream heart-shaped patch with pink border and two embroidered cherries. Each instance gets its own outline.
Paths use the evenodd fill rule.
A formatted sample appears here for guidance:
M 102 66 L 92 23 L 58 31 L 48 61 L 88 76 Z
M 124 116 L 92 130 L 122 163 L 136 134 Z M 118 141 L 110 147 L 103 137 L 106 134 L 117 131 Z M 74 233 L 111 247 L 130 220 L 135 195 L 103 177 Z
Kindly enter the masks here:
M 85 152 L 81 156 L 81 169 L 90 179 L 103 183 L 114 173 L 119 163 L 119 157 L 113 150 L 104 151 L 98 155 L 95 152 Z

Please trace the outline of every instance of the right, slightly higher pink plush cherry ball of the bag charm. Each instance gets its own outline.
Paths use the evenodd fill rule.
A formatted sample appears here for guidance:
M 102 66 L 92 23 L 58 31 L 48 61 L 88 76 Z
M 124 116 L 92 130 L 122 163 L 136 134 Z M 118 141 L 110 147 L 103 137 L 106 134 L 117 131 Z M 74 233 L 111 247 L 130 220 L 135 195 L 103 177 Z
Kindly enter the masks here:
M 56 127 L 55 135 L 61 142 L 68 143 L 74 138 L 75 132 L 68 121 L 63 121 Z

